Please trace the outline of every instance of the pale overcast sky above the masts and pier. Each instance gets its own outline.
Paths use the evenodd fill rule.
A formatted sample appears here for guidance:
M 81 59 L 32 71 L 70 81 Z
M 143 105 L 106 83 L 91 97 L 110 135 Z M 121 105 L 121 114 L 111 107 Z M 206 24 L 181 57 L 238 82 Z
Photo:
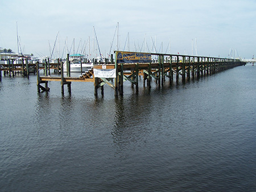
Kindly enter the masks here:
M 256 57 L 255 0 L 0 0 L 0 7 L 0 47 L 18 52 L 18 25 L 23 53 L 35 56 L 49 56 L 58 33 L 55 57 L 58 50 L 65 55 L 65 47 L 72 54 L 73 39 L 75 53 L 86 45 L 88 54 L 90 38 L 92 54 L 93 26 L 102 55 L 113 53 L 119 23 L 122 51 Z

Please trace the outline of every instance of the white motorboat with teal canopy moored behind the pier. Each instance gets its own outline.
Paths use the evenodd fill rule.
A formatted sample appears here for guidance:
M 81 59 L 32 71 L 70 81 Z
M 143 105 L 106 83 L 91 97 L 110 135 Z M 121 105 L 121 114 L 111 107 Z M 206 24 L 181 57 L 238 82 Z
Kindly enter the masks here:
M 70 72 L 81 72 L 81 63 L 78 59 L 72 59 L 70 61 Z M 93 68 L 93 63 L 82 63 L 82 72 L 86 72 Z M 63 71 L 67 72 L 67 61 L 63 64 Z

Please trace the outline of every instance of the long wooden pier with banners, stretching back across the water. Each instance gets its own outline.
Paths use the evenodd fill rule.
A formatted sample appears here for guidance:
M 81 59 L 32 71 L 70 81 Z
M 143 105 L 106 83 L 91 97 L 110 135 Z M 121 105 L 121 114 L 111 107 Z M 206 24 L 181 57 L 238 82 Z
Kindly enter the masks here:
M 120 55 L 123 55 L 123 60 L 118 59 Z M 131 55 L 135 56 L 135 60 L 133 60 L 134 58 L 131 57 Z M 138 56 L 138 58 L 136 56 Z M 149 62 L 145 62 L 145 56 L 149 58 Z M 156 57 L 157 60 L 154 62 L 152 57 Z M 37 85 L 38 91 L 40 91 L 40 89 L 48 91 L 48 81 L 60 81 L 61 93 L 64 94 L 64 85 L 68 86 L 68 91 L 71 93 L 71 82 L 94 82 L 94 95 L 98 94 L 99 88 L 101 88 L 101 94 L 104 94 L 104 85 L 106 84 L 114 89 L 115 96 L 117 96 L 118 93 L 123 95 L 123 83 L 125 81 L 131 82 L 131 84 L 136 87 L 136 92 L 138 93 L 139 76 L 143 77 L 143 85 L 146 85 L 147 81 L 148 89 L 150 89 L 152 80 L 155 80 L 159 86 L 163 86 L 166 78 L 170 79 L 170 84 L 174 82 L 174 78 L 176 78 L 176 82 L 179 82 L 179 78 L 185 82 L 186 78 L 198 78 L 206 74 L 218 73 L 222 70 L 245 64 L 245 62 L 240 60 L 217 57 L 115 51 L 114 64 L 94 65 L 92 70 L 89 70 L 79 77 L 71 77 L 70 62 L 68 62 L 67 65 L 67 77 L 64 77 L 62 62 L 60 66 L 61 77 L 51 77 L 47 75 L 40 77 L 40 67 L 39 64 L 37 64 Z M 98 70 L 102 72 L 102 75 L 98 74 Z M 45 69 L 45 74 L 47 74 L 47 68 Z

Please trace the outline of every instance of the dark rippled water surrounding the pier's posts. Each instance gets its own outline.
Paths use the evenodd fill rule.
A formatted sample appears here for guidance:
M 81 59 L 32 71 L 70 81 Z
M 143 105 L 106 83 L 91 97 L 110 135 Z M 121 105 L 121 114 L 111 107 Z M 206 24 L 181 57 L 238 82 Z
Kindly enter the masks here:
M 49 87 L 0 82 L 0 191 L 256 190 L 256 66 L 123 98 Z

